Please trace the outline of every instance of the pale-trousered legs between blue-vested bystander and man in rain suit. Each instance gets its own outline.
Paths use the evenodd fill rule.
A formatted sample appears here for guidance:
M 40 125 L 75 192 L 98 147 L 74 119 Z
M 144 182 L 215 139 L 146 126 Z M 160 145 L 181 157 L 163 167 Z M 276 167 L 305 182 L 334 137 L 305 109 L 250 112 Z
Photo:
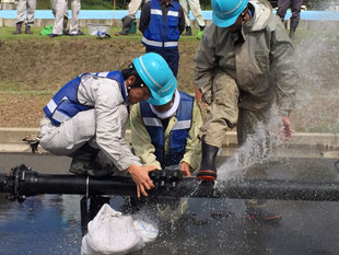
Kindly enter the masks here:
M 197 35 L 197 38 L 201 38 L 201 35 L 204 30 L 204 21 L 201 14 L 201 8 L 199 0 L 179 0 L 180 5 L 183 7 L 184 14 L 185 14 L 185 23 L 186 23 L 186 33 L 183 34 L 185 36 L 191 36 L 191 27 L 190 27 L 190 20 L 189 20 L 189 10 L 194 14 L 198 26 L 200 27 L 200 32 Z

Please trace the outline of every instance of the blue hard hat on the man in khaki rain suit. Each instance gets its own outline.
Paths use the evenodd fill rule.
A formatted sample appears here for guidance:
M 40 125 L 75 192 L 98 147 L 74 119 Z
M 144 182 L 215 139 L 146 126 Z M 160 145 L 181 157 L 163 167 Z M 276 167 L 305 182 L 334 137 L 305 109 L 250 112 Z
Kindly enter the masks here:
M 248 0 L 212 0 L 212 20 L 217 26 L 233 25 L 247 7 Z

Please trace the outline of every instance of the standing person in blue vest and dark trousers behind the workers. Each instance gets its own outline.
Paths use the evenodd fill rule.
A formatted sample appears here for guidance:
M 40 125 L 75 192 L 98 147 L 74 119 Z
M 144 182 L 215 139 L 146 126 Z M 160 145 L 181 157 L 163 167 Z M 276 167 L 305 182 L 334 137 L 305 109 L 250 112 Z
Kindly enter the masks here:
M 160 54 L 177 77 L 178 40 L 185 30 L 184 10 L 180 4 L 174 0 L 151 0 L 144 3 L 139 30 L 145 51 Z

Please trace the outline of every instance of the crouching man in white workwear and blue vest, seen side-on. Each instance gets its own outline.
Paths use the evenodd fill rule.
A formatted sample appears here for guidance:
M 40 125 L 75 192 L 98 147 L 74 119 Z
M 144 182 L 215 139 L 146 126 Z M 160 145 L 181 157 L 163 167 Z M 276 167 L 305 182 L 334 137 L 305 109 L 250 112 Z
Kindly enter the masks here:
M 72 157 L 70 172 L 75 174 L 128 173 L 137 184 L 138 196 L 147 196 L 154 187 L 149 172 L 156 166 L 143 166 L 124 139 L 128 106 L 161 100 L 175 82 L 166 61 L 154 53 L 135 58 L 121 71 L 82 73 L 44 107 L 40 144 L 54 154 Z M 116 167 L 103 167 L 96 161 L 98 152 Z

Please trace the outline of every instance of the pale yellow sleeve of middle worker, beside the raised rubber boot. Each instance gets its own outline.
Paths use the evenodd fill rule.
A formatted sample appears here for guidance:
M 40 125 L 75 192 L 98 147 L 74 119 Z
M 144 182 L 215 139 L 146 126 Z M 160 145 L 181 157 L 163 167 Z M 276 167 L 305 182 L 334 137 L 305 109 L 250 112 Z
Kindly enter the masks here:
M 191 127 L 188 132 L 186 150 L 183 160 L 180 161 L 182 169 L 187 166 L 183 164 L 186 162 L 189 165 L 189 171 L 192 172 L 200 166 L 201 161 L 201 142 L 198 138 L 200 127 L 202 126 L 201 111 L 198 103 L 195 101 L 191 118 Z M 187 172 L 187 171 L 182 171 Z M 188 175 L 188 174 L 187 174 Z

